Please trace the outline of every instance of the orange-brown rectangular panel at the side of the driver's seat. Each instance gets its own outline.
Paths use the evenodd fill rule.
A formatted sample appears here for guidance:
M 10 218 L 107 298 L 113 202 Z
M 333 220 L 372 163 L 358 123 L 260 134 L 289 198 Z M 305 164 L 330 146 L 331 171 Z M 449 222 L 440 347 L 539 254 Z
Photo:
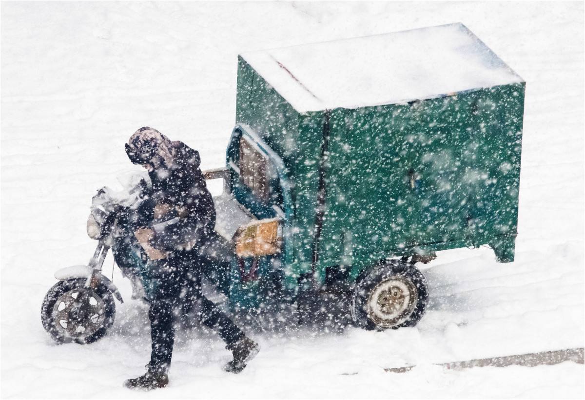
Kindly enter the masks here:
M 283 242 L 278 218 L 253 221 L 239 227 L 234 234 L 238 257 L 278 254 Z

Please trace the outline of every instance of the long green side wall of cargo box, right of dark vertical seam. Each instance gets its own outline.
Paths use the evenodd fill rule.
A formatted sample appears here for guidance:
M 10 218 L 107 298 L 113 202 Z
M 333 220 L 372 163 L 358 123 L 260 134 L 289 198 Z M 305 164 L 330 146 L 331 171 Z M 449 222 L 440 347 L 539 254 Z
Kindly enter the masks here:
M 319 269 L 486 243 L 509 257 L 523 99 L 515 84 L 333 110 Z

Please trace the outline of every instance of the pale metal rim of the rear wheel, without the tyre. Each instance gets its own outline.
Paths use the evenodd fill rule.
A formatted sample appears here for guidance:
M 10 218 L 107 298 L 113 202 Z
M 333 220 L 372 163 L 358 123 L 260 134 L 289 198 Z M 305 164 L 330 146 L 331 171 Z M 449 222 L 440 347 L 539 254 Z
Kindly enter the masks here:
M 368 317 L 383 328 L 397 326 L 414 311 L 417 289 L 402 276 L 390 276 L 371 290 L 367 308 Z

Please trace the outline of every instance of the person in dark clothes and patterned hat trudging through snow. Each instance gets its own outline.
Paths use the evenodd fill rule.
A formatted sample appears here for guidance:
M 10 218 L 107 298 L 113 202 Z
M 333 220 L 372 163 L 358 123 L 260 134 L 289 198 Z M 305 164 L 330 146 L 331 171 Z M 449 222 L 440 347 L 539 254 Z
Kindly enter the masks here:
M 174 312 L 185 301 L 201 300 L 201 322 L 216 331 L 233 353 L 224 369 L 242 371 L 259 345 L 201 292 L 201 269 L 208 256 L 199 249 L 213 246 L 216 234 L 214 201 L 199 169 L 199 153 L 149 127 L 137 130 L 125 147 L 130 161 L 148 170 L 152 183 L 133 221 L 139 227 L 136 238 L 149 255 L 143 279 L 150 288 L 152 353 L 146 374 L 124 385 L 146 390 L 166 387 Z

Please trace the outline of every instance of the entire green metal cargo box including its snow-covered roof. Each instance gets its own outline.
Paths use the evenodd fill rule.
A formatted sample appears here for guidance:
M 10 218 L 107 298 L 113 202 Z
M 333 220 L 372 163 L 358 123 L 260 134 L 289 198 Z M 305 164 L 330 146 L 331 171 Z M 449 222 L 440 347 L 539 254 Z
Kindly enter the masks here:
M 513 261 L 524 92 L 460 23 L 241 54 L 236 124 L 284 163 L 290 199 L 255 201 L 285 211 L 287 276 L 483 244 Z

